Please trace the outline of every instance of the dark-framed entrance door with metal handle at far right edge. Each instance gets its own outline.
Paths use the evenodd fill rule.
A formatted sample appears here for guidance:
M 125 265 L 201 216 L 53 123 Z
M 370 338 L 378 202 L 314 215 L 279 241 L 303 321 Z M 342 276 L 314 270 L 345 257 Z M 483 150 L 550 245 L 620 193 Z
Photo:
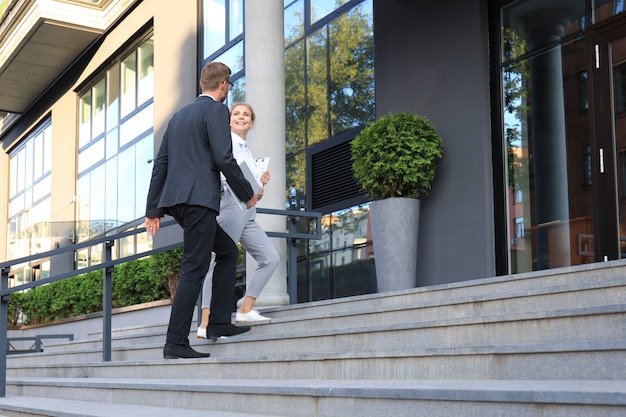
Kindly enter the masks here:
M 626 19 L 594 30 L 591 75 L 596 261 L 626 257 Z

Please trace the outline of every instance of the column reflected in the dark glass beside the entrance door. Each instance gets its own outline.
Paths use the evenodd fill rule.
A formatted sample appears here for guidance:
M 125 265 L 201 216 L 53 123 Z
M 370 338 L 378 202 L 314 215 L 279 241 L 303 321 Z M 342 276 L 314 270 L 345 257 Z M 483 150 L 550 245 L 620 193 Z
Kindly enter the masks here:
M 563 65 L 558 43 L 569 21 L 570 13 L 563 9 L 542 9 L 523 18 L 531 49 L 556 44 L 530 60 L 538 269 L 571 264 Z

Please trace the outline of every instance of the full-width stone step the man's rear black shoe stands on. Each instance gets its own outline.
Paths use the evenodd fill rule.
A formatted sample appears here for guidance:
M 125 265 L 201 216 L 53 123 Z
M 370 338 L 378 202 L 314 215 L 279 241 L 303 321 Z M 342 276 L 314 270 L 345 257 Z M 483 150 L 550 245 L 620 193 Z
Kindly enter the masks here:
M 19 365 L 9 377 L 330 379 L 622 379 L 626 339 L 377 352 L 250 354 L 197 360 Z

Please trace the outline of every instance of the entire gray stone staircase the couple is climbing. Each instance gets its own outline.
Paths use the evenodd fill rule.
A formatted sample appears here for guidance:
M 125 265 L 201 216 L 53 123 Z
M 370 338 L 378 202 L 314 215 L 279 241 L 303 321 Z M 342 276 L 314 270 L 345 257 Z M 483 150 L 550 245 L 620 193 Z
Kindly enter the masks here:
M 626 416 L 623 261 L 266 309 L 217 342 L 194 326 L 207 359 L 162 359 L 167 309 L 114 321 L 111 362 L 98 325 L 10 355 L 0 416 Z

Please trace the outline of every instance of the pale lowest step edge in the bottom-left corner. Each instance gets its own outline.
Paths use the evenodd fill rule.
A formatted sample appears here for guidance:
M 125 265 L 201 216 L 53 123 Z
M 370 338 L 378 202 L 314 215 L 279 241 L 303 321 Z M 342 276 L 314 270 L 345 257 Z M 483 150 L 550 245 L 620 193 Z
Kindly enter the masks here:
M 0 410 L 54 417 L 272 417 L 266 414 L 241 414 L 226 411 L 174 409 L 135 404 L 110 404 L 97 401 L 22 396 L 0 398 Z

